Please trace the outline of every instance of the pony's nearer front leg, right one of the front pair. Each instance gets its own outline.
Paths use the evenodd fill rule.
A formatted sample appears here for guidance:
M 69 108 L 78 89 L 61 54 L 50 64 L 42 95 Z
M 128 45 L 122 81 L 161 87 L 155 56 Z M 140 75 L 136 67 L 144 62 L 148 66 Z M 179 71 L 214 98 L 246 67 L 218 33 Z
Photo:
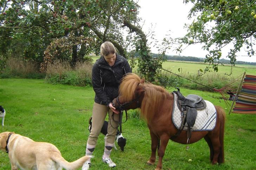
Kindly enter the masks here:
M 160 137 L 160 147 L 158 150 L 158 163 L 156 165 L 155 170 L 161 170 L 162 169 L 162 160 L 165 155 L 165 149 L 167 147 L 167 144 L 169 142 L 169 136 L 168 135 L 162 135 Z

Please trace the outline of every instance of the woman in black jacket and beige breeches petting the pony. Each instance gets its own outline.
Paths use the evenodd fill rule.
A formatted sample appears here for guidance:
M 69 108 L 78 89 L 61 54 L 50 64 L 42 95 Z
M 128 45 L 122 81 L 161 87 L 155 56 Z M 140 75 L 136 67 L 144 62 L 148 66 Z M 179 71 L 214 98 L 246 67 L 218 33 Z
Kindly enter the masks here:
M 123 56 L 116 54 L 114 45 L 108 41 L 102 43 L 101 57 L 92 67 L 92 87 L 95 91 L 95 102 L 92 109 L 92 128 L 85 152 L 86 155 L 92 155 L 108 113 L 110 123 L 108 123 L 108 134 L 102 161 L 107 163 L 109 167 L 116 166 L 109 156 L 115 142 L 117 121 L 119 121 L 119 112 L 112 106 L 112 100 L 118 96 L 121 79 L 130 72 L 132 70 L 128 61 Z M 90 160 L 85 162 L 82 170 L 89 169 L 90 164 Z

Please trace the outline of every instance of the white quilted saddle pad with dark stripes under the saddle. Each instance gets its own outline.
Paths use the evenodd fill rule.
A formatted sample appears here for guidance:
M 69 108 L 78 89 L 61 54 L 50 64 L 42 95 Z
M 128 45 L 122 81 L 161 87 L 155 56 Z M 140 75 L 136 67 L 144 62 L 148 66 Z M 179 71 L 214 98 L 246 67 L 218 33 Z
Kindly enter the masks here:
M 182 114 L 177 105 L 177 95 L 174 94 L 173 101 L 173 111 L 172 111 L 172 121 L 177 129 L 180 128 L 182 122 Z M 197 110 L 197 118 L 194 126 L 192 127 L 192 131 L 206 131 L 212 130 L 216 125 L 216 109 L 213 104 L 207 100 L 205 100 L 206 108 L 203 110 Z M 187 130 L 187 123 L 183 130 Z

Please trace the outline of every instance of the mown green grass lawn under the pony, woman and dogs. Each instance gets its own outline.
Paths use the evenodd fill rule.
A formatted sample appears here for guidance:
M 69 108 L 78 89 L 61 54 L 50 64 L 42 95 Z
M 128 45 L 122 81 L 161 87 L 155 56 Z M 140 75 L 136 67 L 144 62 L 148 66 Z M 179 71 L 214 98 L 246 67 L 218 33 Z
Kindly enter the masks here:
M 170 91 L 173 91 L 171 89 Z M 181 88 L 184 95 L 198 94 L 215 105 L 225 104 L 217 93 Z M 91 87 L 46 84 L 44 80 L 0 79 L 0 105 L 6 109 L 3 131 L 14 131 L 34 141 L 49 142 L 62 152 L 67 161 L 85 154 L 88 139 L 88 119 L 94 102 Z M 134 111 L 129 110 L 132 115 Z M 228 113 L 228 109 L 226 109 Z M 1 120 L 1 119 L 0 119 Z M 209 148 L 204 140 L 186 145 L 169 141 L 163 159 L 163 169 L 255 169 L 256 165 L 256 115 L 230 114 L 226 116 L 225 163 L 210 165 Z M 116 170 L 153 170 L 146 164 L 151 153 L 149 130 L 143 120 L 128 118 L 123 124 L 127 138 L 124 152 L 113 150 L 111 158 Z M 92 170 L 109 169 L 101 162 L 104 136 L 100 135 L 92 159 Z M 188 162 L 192 159 L 192 162 Z M 0 152 L 0 169 L 11 169 L 8 155 Z

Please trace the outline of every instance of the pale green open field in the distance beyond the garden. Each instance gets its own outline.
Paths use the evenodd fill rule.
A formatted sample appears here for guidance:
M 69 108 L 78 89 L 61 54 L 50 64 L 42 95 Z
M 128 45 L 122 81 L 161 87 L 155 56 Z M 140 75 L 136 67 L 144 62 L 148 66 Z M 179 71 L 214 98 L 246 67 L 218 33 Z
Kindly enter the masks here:
M 92 59 L 96 61 L 99 57 L 94 56 Z M 173 73 L 180 73 L 178 71 L 179 68 L 182 68 L 183 73 L 188 74 L 198 74 L 198 70 L 204 70 L 208 66 L 207 63 L 203 62 L 187 62 L 187 61 L 165 61 L 162 64 L 162 67 L 168 69 Z M 219 65 L 217 74 L 230 74 L 231 66 L 230 65 Z M 180 69 L 181 71 L 181 69 Z M 237 77 L 246 72 L 249 75 L 256 75 L 256 66 L 238 64 L 232 68 L 232 76 Z M 211 72 L 212 73 L 212 72 Z M 210 74 L 211 74 L 210 73 Z M 209 73 L 208 73 L 209 74 Z

